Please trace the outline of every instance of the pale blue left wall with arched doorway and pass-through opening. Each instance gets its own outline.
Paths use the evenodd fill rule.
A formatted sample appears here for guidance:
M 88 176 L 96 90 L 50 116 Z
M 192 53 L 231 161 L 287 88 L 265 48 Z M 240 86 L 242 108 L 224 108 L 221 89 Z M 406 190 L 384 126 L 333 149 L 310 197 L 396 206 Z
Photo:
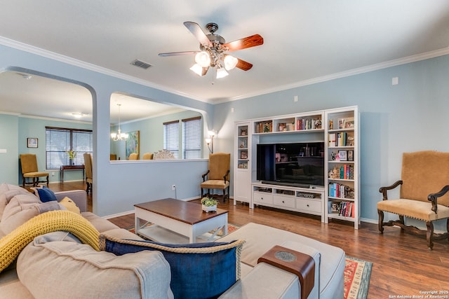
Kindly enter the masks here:
M 189 99 L 168 92 L 156 90 L 148 86 L 100 74 L 96 71 L 52 60 L 47 57 L 27 53 L 8 46 L 0 46 L 0 70 L 22 70 L 31 74 L 50 76 L 65 81 L 79 83 L 92 94 L 93 98 L 93 211 L 100 215 L 118 214 L 132 211 L 133 204 L 164 197 L 189 199 L 199 196 L 201 174 L 207 169 L 207 160 L 173 161 L 173 162 L 126 162 L 119 164 L 109 162 L 110 125 L 109 99 L 114 92 L 135 95 L 142 99 L 154 99 L 156 102 L 172 103 L 194 111 L 200 111 L 204 117 L 205 128 L 211 125 L 213 106 L 204 102 Z M 17 121 L 17 120 L 15 120 Z M 18 126 L 18 124 L 16 125 Z M 11 130 L 13 132 L 14 130 Z M 15 129 L 18 132 L 18 128 Z M 6 179 L 18 177 L 18 140 L 15 142 L 0 139 L 0 148 L 7 148 L 7 156 L 15 160 L 15 164 L 1 165 Z M 6 158 L 0 154 L 0 159 Z M 1 161 L 3 162 L 3 161 Z M 171 190 L 176 184 L 177 194 Z

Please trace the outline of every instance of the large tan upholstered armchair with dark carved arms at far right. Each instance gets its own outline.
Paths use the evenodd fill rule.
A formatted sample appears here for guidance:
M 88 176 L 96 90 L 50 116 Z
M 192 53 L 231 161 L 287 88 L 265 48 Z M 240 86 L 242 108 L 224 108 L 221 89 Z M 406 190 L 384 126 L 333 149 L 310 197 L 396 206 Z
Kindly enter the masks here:
M 399 198 L 390 199 L 387 191 L 401 189 Z M 434 221 L 446 219 L 449 231 L 449 153 L 418 151 L 403 153 L 401 180 L 380 188 L 382 201 L 377 202 L 379 230 L 397 225 L 427 237 L 427 247 L 432 249 L 434 239 L 449 239 L 449 232 L 434 234 Z M 384 212 L 398 214 L 398 220 L 384 222 Z M 405 218 L 424 221 L 427 230 L 406 225 Z

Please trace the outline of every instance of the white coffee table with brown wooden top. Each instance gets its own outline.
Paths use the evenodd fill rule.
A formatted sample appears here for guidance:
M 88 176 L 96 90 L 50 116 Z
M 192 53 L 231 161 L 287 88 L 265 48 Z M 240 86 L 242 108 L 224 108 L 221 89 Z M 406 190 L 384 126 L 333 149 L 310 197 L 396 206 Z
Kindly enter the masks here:
M 154 202 L 134 204 L 135 234 L 142 235 L 156 242 L 194 243 L 217 239 L 217 232 L 222 228 L 227 235 L 227 211 L 217 209 L 206 213 L 201 204 L 166 198 Z M 140 219 L 152 225 L 140 225 Z M 211 230 L 215 233 L 210 234 Z

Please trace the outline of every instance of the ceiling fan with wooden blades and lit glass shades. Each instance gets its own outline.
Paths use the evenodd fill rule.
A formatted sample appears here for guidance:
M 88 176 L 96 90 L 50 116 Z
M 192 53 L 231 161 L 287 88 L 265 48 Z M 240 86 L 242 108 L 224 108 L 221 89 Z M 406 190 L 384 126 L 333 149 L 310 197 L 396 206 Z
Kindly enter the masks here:
M 199 76 L 206 75 L 209 67 L 216 70 L 217 78 L 227 76 L 227 71 L 234 69 L 235 67 L 243 69 L 243 71 L 248 71 L 248 69 L 253 67 L 253 64 L 229 55 L 227 52 L 260 46 L 264 43 L 264 39 L 259 34 L 254 34 L 243 39 L 226 43 L 222 36 L 215 34 L 218 29 L 218 25 L 215 23 L 208 23 L 206 25 L 206 29 L 208 29 L 209 32 L 208 34 L 203 32 L 203 29 L 201 29 L 195 22 L 184 22 L 184 25 L 199 41 L 200 50 L 159 53 L 159 56 L 165 57 L 196 54 L 196 63 L 190 69 Z

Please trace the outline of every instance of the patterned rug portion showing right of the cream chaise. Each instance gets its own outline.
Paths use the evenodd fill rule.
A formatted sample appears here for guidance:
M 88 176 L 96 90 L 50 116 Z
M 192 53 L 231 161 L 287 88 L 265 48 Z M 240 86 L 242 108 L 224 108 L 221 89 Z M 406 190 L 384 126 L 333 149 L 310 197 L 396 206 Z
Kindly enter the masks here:
M 365 299 L 370 286 L 373 263 L 346 256 L 344 266 L 344 299 Z

